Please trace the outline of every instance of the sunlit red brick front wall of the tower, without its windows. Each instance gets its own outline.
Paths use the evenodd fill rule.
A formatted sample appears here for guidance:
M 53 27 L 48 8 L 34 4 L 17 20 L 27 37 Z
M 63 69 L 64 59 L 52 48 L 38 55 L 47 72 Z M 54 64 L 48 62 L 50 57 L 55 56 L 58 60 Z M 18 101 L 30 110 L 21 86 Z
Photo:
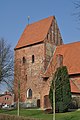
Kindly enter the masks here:
M 32 63 L 32 55 L 34 55 L 34 63 Z M 22 58 L 25 57 L 26 62 L 23 64 Z M 18 98 L 18 80 L 20 80 L 20 97 L 21 101 L 31 101 L 40 99 L 42 88 L 41 71 L 44 69 L 44 44 L 18 49 L 15 51 L 15 101 Z M 27 75 L 27 78 L 26 78 Z M 32 99 L 27 99 L 27 90 L 32 89 Z

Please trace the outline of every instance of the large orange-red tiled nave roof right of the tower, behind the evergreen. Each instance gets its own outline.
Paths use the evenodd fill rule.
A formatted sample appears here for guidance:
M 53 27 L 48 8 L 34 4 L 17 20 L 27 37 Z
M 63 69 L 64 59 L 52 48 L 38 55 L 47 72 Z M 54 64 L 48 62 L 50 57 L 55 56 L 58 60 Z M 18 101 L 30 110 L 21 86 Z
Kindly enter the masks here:
M 75 42 L 60 45 L 56 48 L 53 58 L 47 67 L 45 75 L 48 76 L 54 71 L 56 56 L 58 54 L 63 56 L 63 66 L 67 66 L 69 75 L 80 73 L 80 42 Z

